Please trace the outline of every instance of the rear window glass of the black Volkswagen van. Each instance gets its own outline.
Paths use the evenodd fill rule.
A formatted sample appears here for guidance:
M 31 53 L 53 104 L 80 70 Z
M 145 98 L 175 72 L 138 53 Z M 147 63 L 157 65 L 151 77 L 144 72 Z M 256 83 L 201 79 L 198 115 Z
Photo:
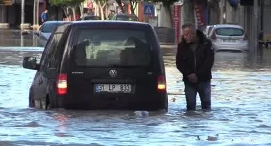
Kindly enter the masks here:
M 151 45 L 143 30 L 83 28 L 73 46 L 77 66 L 147 66 Z

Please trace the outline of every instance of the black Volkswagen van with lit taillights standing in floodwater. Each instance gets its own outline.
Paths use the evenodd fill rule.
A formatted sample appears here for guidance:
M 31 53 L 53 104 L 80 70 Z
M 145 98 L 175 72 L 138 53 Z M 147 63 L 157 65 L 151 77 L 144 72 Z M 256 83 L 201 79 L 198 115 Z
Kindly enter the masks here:
M 167 111 L 161 48 L 146 23 L 67 22 L 52 33 L 40 63 L 24 57 L 23 67 L 37 71 L 29 107 Z

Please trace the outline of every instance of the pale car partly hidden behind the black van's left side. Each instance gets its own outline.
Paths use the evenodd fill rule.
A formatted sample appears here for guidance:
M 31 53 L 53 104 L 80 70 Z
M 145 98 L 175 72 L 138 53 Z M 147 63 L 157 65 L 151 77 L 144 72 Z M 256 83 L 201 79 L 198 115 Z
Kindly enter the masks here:
M 35 35 L 38 35 L 38 46 L 45 46 L 54 29 L 65 21 L 46 21 Z

